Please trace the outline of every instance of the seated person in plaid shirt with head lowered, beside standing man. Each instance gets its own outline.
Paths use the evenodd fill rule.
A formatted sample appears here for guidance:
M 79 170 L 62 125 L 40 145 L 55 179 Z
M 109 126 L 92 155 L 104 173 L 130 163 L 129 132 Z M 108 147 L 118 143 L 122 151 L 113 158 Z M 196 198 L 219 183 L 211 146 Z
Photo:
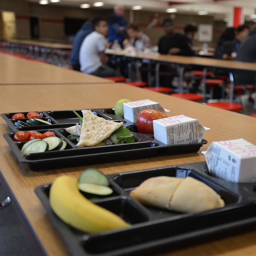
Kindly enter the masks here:
M 144 34 L 139 26 L 136 24 L 131 24 L 127 28 L 127 34 L 130 38 L 129 44 L 136 47 L 136 44 L 141 43 L 144 48 L 150 48 L 151 47 L 151 40 L 150 38 Z

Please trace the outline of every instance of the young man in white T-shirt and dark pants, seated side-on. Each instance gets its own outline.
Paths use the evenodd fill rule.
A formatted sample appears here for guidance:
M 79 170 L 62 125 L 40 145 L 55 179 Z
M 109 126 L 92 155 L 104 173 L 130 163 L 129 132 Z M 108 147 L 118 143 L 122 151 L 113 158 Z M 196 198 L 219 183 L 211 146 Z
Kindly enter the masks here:
M 108 35 L 108 23 L 105 18 L 95 18 L 93 20 L 94 32 L 90 33 L 83 41 L 79 62 L 81 71 L 100 77 L 120 76 L 115 69 L 108 67 L 108 58 L 105 55 Z

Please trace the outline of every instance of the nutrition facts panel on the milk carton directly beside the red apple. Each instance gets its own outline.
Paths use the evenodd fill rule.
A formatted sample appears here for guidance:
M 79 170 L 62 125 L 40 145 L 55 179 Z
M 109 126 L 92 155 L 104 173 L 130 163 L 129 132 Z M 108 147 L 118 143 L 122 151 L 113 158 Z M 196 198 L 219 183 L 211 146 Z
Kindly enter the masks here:
M 197 143 L 197 121 L 167 128 L 168 144 Z

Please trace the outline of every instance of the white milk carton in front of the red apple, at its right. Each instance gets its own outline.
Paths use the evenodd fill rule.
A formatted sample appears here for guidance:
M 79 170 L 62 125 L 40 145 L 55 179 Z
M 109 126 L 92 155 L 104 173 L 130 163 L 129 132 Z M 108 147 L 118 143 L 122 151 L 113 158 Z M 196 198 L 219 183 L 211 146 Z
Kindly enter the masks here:
M 153 120 L 153 128 L 155 139 L 166 145 L 200 143 L 210 129 L 184 115 Z

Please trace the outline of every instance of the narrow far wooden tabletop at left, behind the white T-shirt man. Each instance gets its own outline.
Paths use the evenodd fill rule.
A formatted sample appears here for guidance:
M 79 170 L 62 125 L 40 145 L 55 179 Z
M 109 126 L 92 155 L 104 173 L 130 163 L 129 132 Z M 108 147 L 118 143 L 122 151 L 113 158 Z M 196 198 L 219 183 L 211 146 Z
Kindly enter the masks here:
M 7 41 L 10 42 L 10 43 L 34 45 L 34 46 L 41 46 L 41 47 L 52 48 L 52 49 L 71 50 L 73 48 L 72 44 L 41 42 L 41 41 L 38 41 L 38 40 L 10 39 L 10 40 L 7 40 Z

